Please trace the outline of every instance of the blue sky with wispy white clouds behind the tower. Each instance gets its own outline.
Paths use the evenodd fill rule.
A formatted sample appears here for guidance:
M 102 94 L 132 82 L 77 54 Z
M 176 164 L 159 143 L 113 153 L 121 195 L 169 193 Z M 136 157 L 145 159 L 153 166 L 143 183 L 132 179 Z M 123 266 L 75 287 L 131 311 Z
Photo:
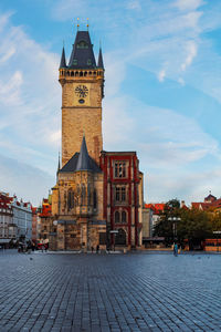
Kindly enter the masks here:
M 38 205 L 55 184 L 57 68 L 88 18 L 104 149 L 137 151 L 147 203 L 220 197 L 220 0 L 1 0 L 0 190 Z

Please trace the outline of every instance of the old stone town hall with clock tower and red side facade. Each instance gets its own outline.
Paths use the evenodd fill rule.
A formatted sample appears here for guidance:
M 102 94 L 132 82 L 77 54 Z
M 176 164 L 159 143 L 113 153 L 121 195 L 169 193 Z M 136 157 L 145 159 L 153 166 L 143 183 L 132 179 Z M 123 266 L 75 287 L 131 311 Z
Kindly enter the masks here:
M 69 64 L 63 49 L 62 164 L 52 188 L 53 250 L 141 245 L 143 174 L 136 152 L 103 149 L 102 50 L 96 62 L 88 31 L 77 31 Z

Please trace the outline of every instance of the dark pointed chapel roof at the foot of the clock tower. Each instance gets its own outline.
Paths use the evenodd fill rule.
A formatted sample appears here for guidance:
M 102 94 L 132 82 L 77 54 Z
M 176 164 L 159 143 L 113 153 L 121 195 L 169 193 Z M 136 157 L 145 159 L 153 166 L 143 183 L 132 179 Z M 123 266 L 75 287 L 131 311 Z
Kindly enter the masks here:
M 90 157 L 86 141 L 83 136 L 81 152 L 75 153 L 73 157 L 62 167 L 61 173 L 65 172 L 77 172 L 77 170 L 88 170 L 92 173 L 101 173 L 98 165 Z

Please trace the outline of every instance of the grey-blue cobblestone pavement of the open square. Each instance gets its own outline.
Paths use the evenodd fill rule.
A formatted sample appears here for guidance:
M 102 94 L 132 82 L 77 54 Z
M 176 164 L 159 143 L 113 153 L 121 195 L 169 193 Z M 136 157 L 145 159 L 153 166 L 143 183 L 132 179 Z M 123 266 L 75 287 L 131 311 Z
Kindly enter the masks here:
M 0 251 L 0 331 L 221 331 L 221 255 Z

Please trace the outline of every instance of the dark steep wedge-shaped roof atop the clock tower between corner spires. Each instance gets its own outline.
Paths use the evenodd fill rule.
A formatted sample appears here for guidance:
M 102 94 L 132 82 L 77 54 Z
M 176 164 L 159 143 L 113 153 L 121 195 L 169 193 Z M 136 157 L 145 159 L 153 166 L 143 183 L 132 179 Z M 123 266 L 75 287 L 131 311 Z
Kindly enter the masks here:
M 94 58 L 93 44 L 88 31 L 77 31 L 73 44 L 69 68 L 72 69 L 94 69 L 96 62 Z

